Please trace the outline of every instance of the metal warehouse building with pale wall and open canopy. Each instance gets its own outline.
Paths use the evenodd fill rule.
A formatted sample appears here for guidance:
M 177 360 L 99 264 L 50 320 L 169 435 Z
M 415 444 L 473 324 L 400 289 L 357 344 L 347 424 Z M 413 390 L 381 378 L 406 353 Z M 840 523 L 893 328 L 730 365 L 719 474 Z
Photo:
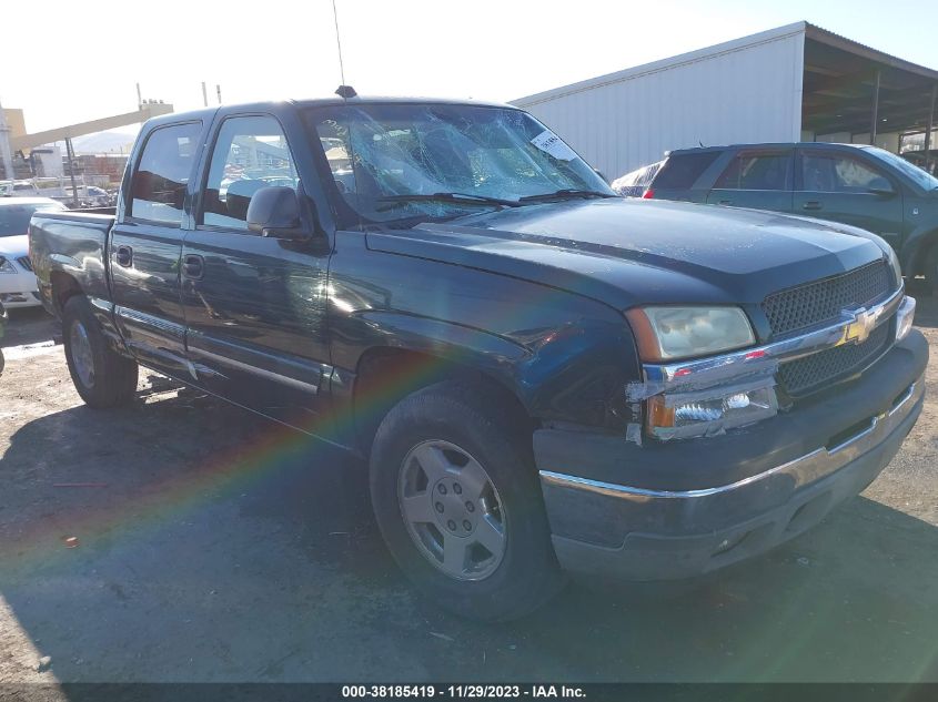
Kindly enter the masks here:
M 747 142 L 876 143 L 935 125 L 938 71 L 807 22 L 521 98 L 607 177 L 665 151 Z

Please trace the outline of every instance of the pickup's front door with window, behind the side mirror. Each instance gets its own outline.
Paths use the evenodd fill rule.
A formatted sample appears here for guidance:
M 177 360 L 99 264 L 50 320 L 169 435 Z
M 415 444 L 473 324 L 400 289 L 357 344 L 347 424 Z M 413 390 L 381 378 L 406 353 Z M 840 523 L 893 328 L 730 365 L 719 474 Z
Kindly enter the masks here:
M 262 187 L 293 187 L 303 199 L 295 152 L 274 116 L 244 114 L 218 125 L 208 153 L 182 252 L 186 349 L 198 384 L 317 434 L 331 373 L 329 248 L 324 238 L 262 236 L 246 222 Z

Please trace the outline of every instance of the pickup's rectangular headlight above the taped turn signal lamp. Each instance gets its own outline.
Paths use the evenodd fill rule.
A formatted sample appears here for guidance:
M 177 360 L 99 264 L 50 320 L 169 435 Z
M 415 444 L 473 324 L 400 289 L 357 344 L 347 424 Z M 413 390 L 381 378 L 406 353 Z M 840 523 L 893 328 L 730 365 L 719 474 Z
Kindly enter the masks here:
M 709 356 L 756 343 L 739 307 L 636 307 L 625 316 L 645 362 Z

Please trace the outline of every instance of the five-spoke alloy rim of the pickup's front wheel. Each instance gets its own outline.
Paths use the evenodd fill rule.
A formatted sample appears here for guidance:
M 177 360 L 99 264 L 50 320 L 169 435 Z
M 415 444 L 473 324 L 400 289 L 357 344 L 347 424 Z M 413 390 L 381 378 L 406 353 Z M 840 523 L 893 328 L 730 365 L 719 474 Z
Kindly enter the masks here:
M 465 449 L 414 446 L 397 474 L 397 501 L 421 555 L 456 580 L 484 580 L 507 546 L 507 515 L 492 478 Z

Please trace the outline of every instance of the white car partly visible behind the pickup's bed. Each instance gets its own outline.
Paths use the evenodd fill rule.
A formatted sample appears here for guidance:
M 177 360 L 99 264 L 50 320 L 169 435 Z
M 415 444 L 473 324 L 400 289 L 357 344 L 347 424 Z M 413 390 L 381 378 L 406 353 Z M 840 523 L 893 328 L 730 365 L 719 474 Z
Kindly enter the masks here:
M 29 261 L 29 220 L 37 210 L 64 210 L 49 197 L 0 197 L 0 303 L 8 309 L 40 305 Z

